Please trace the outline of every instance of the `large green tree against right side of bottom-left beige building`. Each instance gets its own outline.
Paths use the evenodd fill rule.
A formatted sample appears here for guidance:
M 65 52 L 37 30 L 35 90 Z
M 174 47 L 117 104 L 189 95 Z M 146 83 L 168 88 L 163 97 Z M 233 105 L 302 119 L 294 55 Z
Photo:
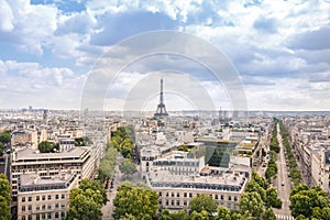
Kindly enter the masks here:
M 70 191 L 67 220 L 101 220 L 102 205 L 107 204 L 107 194 L 98 182 L 82 179 L 78 188 Z

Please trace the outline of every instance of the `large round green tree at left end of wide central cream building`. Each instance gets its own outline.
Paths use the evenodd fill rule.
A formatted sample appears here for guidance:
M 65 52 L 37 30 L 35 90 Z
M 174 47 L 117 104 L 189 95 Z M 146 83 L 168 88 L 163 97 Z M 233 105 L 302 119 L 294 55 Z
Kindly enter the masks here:
M 142 184 L 124 182 L 113 200 L 114 219 L 132 215 L 136 219 L 153 219 L 158 209 L 158 194 Z

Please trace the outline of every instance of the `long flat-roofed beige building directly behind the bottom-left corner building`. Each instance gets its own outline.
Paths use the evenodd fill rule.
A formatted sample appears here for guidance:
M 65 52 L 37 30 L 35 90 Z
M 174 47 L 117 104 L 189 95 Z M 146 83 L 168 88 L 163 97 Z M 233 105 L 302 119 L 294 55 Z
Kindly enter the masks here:
M 97 168 L 95 166 L 97 158 L 91 158 L 91 150 L 87 147 L 75 147 L 58 153 L 40 153 L 31 148 L 21 148 L 13 152 L 11 160 L 13 201 L 16 201 L 21 175 L 56 176 L 61 172 L 70 170 L 82 179 L 91 178 Z

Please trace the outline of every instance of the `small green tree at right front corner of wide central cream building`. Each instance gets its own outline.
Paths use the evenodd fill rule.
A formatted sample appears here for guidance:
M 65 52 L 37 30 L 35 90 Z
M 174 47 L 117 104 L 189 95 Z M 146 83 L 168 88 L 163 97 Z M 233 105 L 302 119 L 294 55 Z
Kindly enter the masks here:
M 263 213 L 264 202 L 261 196 L 256 193 L 244 193 L 240 199 L 240 210 L 241 212 L 249 211 L 251 212 L 252 217 L 260 219 L 261 215 Z

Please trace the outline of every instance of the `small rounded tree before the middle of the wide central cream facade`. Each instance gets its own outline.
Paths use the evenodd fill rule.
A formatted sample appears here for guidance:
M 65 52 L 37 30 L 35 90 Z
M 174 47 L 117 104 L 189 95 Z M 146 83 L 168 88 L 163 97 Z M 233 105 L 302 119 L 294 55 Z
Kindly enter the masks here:
M 201 212 L 206 210 L 209 215 L 217 211 L 218 202 L 209 195 L 200 194 L 189 202 L 190 213 L 194 211 Z

